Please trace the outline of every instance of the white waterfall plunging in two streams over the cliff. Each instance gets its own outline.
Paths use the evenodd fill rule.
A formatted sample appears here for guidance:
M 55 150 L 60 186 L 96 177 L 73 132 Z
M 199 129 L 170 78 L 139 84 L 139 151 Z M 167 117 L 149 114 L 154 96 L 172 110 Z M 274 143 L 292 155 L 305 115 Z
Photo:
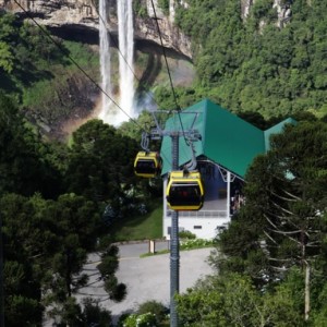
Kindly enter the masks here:
M 110 44 L 108 32 L 108 0 L 99 0 L 99 38 L 100 38 L 100 70 L 102 89 L 113 98 L 110 74 Z M 112 101 L 102 95 L 102 108 L 99 118 L 106 123 L 120 125 L 123 121 L 134 118 L 134 28 L 132 0 L 117 1 L 118 35 L 119 35 L 119 89 L 120 110 Z M 114 99 L 116 102 L 118 102 Z

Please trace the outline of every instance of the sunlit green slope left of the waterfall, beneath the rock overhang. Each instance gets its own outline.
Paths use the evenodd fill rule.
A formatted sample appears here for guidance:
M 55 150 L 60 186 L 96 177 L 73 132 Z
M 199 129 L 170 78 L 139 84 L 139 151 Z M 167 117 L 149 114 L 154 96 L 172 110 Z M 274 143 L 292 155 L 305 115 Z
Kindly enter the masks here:
M 44 134 L 62 137 L 70 118 L 89 114 L 97 87 L 98 55 L 88 46 L 50 36 L 29 22 L 0 12 L 0 89 L 10 94 Z

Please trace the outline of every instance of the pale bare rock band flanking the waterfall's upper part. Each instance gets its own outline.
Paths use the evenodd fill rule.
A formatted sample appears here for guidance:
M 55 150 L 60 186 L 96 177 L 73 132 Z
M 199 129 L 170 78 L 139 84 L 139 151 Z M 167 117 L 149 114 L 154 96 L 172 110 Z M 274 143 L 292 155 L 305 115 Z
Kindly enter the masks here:
M 116 1 L 110 1 L 110 12 L 116 12 Z M 99 15 L 95 0 L 0 0 L 0 9 L 23 17 L 33 16 L 38 23 L 61 35 L 73 35 L 78 39 L 98 43 Z M 26 13 L 27 12 L 27 13 Z M 169 17 L 158 21 L 164 46 L 189 59 L 192 58 L 191 40 L 172 25 Z M 110 33 L 117 36 L 117 17 L 110 15 Z M 145 19 L 135 17 L 135 41 L 144 45 L 160 45 L 157 23 L 152 14 Z M 83 34 L 83 35 L 82 35 Z

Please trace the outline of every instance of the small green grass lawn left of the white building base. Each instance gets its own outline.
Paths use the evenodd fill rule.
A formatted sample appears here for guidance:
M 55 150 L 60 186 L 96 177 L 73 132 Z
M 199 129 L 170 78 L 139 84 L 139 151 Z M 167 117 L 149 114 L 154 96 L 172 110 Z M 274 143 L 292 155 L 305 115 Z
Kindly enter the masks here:
M 112 225 L 114 242 L 162 238 L 162 201 L 156 199 L 144 216 L 122 218 Z

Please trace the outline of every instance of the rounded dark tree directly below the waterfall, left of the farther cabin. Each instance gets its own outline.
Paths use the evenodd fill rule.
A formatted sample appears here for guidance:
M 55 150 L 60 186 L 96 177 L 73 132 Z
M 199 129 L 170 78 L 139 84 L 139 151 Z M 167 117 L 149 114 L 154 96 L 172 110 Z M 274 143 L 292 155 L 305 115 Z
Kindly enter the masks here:
M 113 126 L 90 120 L 73 133 L 68 190 L 96 202 L 124 197 L 133 185 L 136 142 Z

